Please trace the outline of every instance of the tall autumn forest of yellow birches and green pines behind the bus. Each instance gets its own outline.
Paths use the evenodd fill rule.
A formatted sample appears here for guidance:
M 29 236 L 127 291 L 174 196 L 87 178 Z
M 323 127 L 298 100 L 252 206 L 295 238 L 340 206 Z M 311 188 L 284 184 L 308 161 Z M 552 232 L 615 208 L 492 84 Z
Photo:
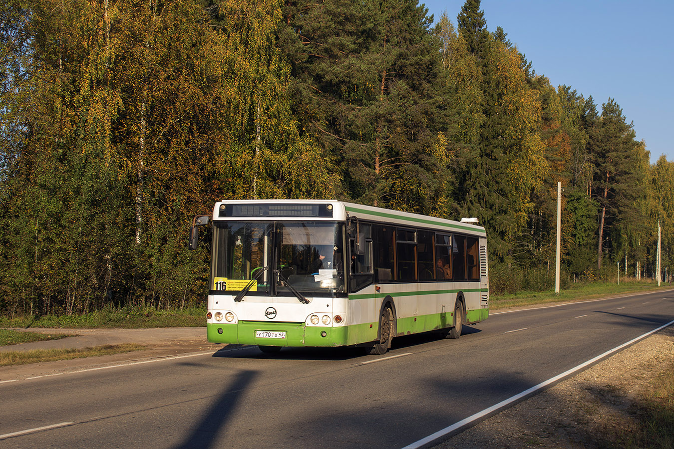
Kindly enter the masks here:
M 204 304 L 193 217 L 342 199 L 487 229 L 491 290 L 654 277 L 674 165 L 489 11 L 416 0 L 0 5 L 0 313 Z M 616 92 L 619 95 L 620 92 Z M 669 273 L 668 271 L 668 273 Z

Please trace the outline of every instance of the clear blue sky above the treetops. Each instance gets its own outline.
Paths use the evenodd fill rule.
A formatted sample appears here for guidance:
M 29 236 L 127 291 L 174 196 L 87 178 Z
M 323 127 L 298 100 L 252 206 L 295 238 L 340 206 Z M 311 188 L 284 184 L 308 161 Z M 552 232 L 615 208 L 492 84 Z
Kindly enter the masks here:
M 456 25 L 464 1 L 420 3 Z M 487 29 L 501 26 L 538 75 L 591 95 L 600 112 L 614 98 L 651 162 L 674 161 L 674 1 L 482 0 L 481 9 Z

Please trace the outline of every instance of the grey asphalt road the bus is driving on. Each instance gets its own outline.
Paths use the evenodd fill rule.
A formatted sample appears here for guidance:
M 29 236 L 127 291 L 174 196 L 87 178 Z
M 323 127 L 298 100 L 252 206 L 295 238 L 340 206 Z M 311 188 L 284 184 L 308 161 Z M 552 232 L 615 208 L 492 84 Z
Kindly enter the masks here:
M 379 356 L 224 348 L 6 382 L 0 448 L 403 448 L 673 320 L 658 291 L 494 313 Z

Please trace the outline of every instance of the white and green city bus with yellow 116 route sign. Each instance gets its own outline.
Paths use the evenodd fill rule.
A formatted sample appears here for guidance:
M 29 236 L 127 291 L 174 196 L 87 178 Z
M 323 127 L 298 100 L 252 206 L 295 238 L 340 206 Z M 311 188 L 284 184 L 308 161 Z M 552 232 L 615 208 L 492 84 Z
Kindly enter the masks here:
M 216 203 L 208 341 L 365 347 L 437 331 L 458 339 L 489 316 L 487 235 L 452 221 L 330 200 Z

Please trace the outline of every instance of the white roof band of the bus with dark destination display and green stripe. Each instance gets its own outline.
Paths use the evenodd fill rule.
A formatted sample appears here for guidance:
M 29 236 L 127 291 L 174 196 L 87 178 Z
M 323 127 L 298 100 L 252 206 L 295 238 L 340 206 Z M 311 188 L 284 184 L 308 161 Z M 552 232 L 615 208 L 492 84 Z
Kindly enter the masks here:
M 218 201 L 214 207 L 213 219 L 253 220 L 268 219 L 312 219 L 346 221 L 357 217 L 367 221 L 378 221 L 410 226 L 433 228 L 447 232 L 463 232 L 484 237 L 485 228 L 470 223 L 461 223 L 449 219 L 430 217 L 418 213 L 395 211 L 382 207 L 373 207 L 338 200 L 308 199 L 257 199 Z

